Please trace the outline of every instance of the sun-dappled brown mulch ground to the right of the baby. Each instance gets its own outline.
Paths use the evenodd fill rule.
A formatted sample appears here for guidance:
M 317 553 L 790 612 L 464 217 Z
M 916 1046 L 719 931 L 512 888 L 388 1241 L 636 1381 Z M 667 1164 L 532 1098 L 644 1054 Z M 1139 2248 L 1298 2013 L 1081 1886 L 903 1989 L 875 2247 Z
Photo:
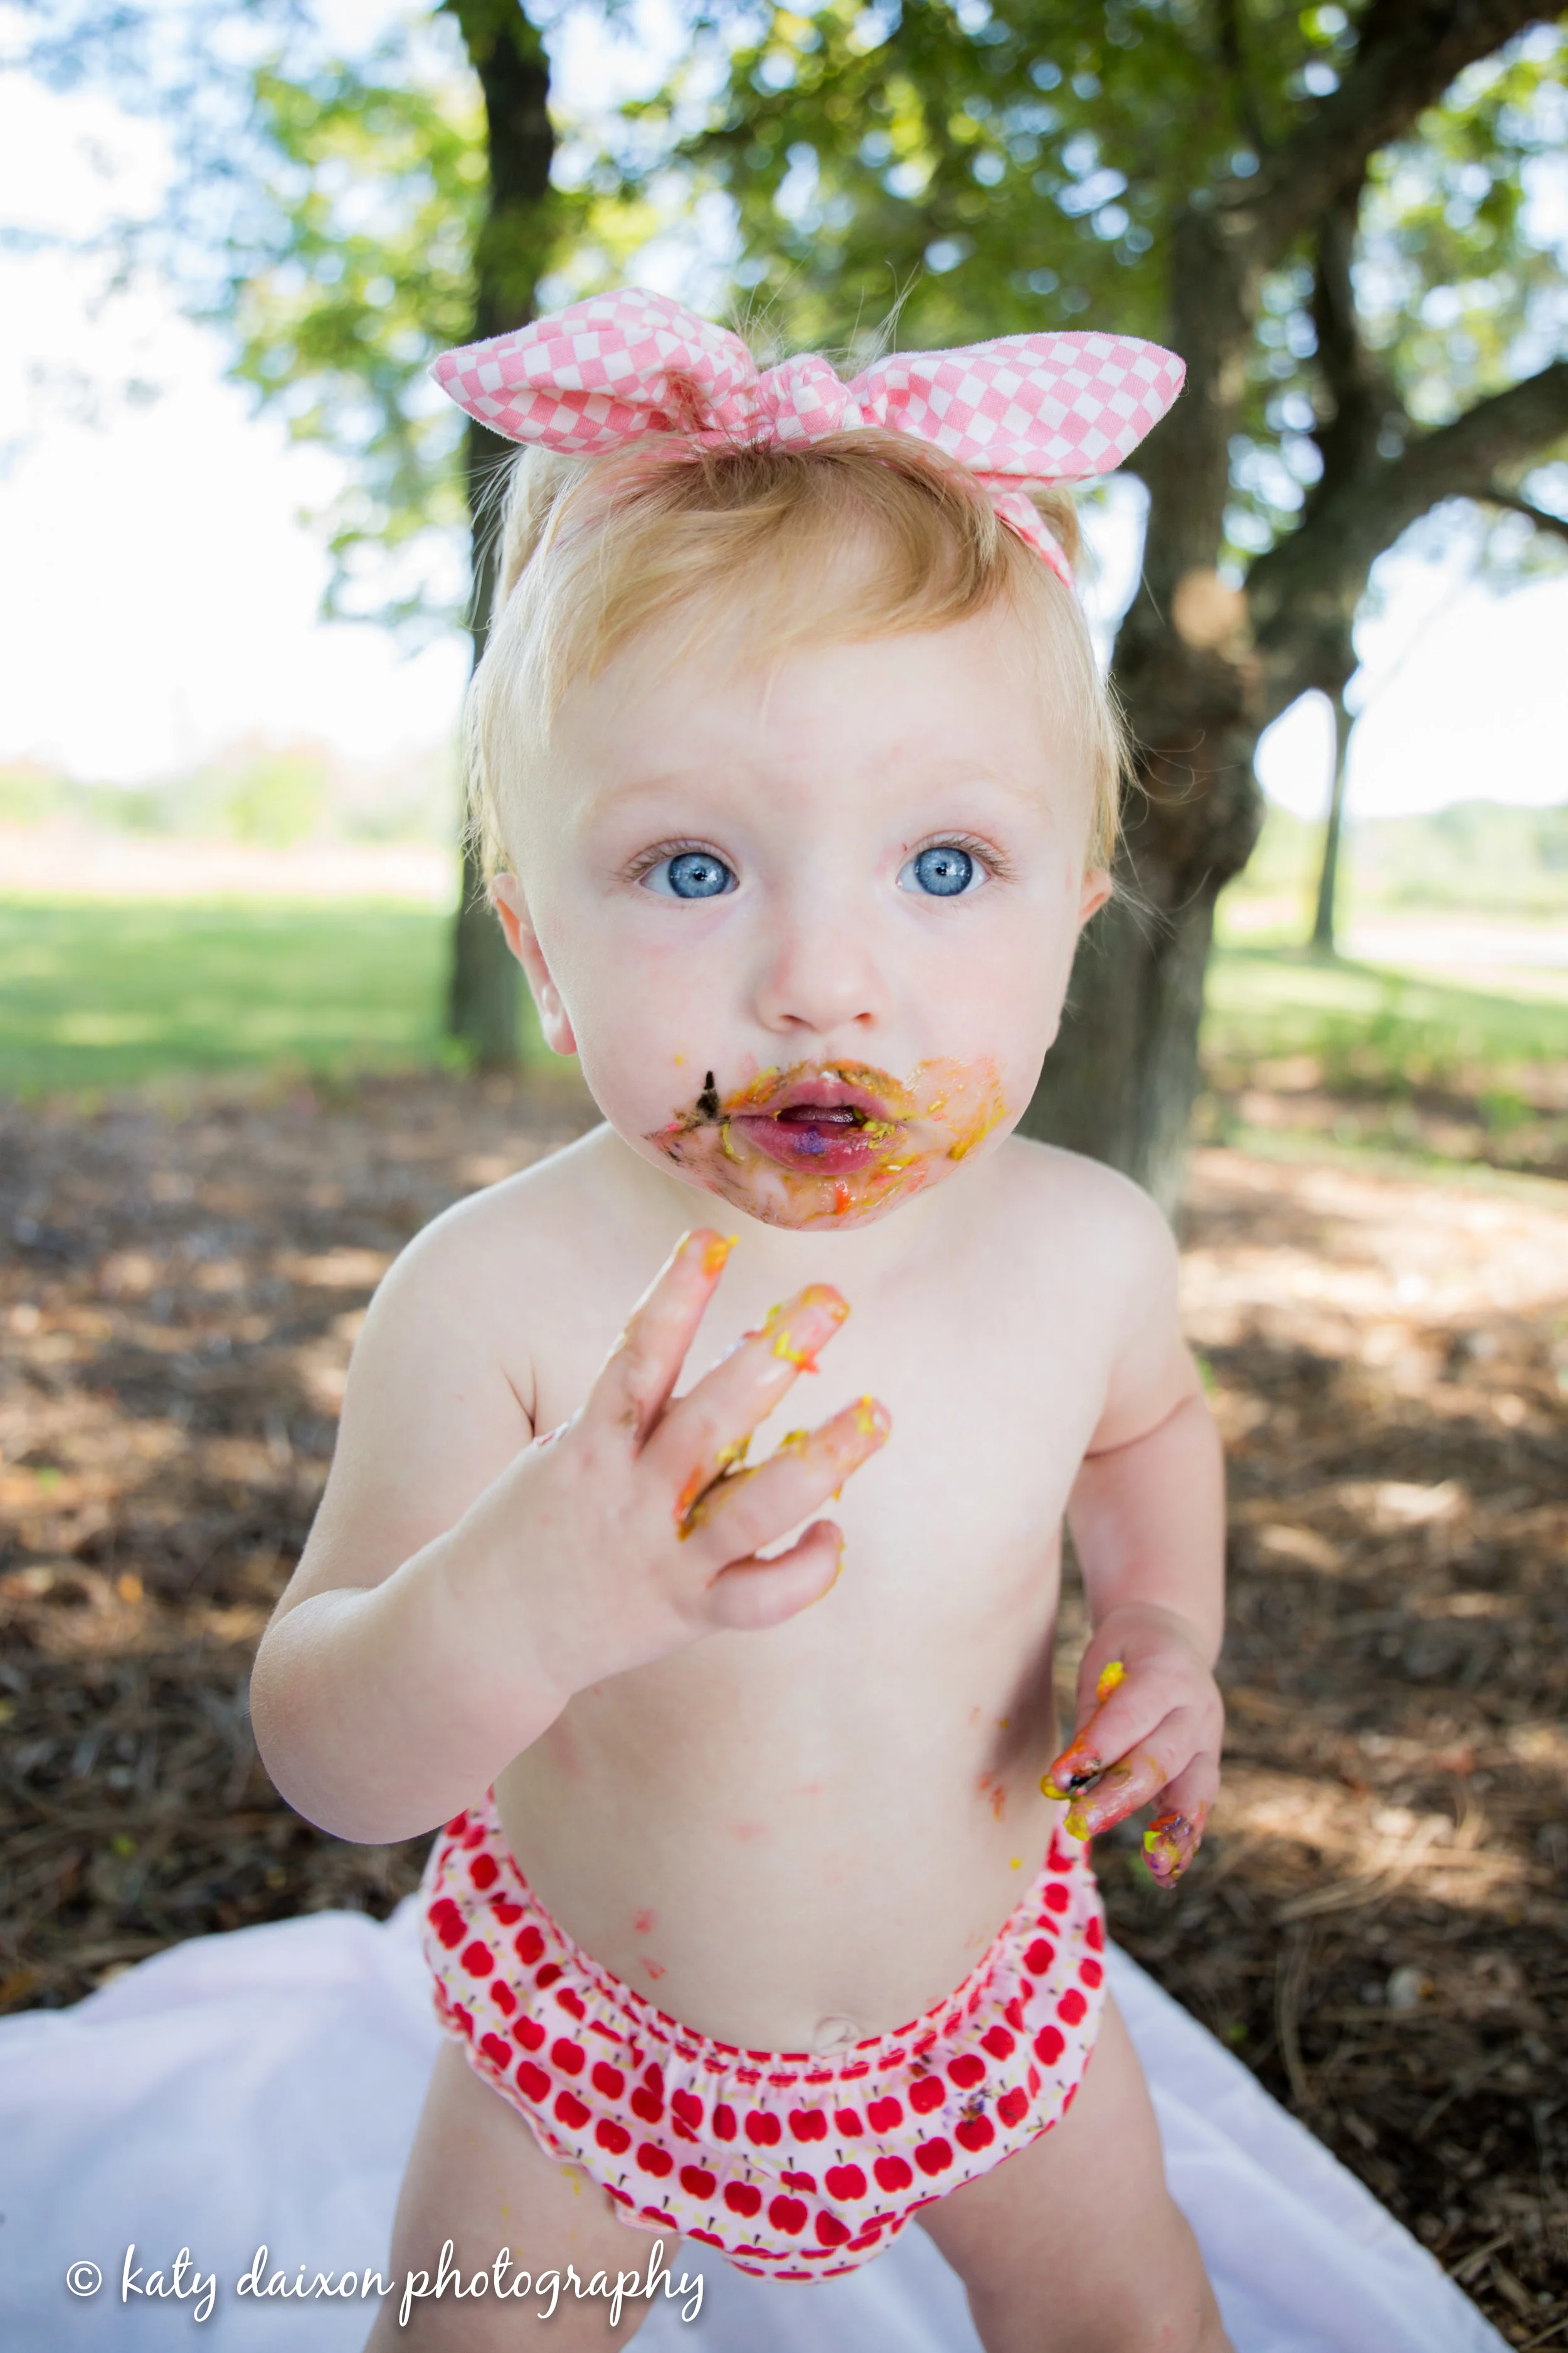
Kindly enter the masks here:
M 1117 1932 L 1533 2341 L 1568 2320 L 1568 1200 L 1199 1153 L 1185 1313 L 1227 1777 L 1173 1906 L 1103 1854 Z

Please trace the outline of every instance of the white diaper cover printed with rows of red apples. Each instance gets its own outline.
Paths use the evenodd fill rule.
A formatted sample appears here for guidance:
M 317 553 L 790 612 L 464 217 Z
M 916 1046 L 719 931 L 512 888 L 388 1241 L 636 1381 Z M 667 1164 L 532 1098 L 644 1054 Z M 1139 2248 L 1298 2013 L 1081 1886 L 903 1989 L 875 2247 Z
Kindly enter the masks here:
M 494 1793 L 447 1824 L 421 1901 L 437 2017 L 541 2148 L 625 2221 L 776 2280 L 853 2271 L 1060 2122 L 1105 2000 L 1100 1894 L 1060 1831 L 947 2000 L 832 2054 L 715 2042 L 623 1986 L 538 1904 Z

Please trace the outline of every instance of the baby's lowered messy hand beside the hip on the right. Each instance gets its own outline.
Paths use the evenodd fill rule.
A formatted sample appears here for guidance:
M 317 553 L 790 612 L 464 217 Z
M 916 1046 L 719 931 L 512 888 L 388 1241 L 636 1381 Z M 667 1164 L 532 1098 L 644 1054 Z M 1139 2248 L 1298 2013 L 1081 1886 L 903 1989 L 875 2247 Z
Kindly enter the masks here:
M 1067 1828 L 1095 1838 L 1150 1798 L 1150 1873 L 1173 1887 L 1204 1838 L 1220 1788 L 1225 1706 L 1194 1633 L 1173 1609 L 1126 1605 L 1095 1628 L 1079 1668 L 1079 1727 L 1041 1779 L 1070 1798 Z

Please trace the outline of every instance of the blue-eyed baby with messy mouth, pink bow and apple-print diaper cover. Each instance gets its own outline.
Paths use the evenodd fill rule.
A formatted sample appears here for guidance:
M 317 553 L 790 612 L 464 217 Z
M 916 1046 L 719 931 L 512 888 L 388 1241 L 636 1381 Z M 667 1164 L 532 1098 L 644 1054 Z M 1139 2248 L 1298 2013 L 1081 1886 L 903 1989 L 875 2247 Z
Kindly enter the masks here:
M 444 1824 L 395 2275 L 599 2294 L 369 2344 L 623 2344 L 628 2224 L 820 2280 L 919 2214 L 990 2353 L 1213 2353 L 1086 1840 L 1154 1800 L 1168 1880 L 1201 1835 L 1220 1449 L 1154 1207 L 1011 1136 L 1124 758 L 1048 485 L 1180 362 L 846 386 L 616 294 L 437 374 L 534 442 L 477 805 L 604 1125 L 381 1285 L 254 1722 L 336 1835 Z

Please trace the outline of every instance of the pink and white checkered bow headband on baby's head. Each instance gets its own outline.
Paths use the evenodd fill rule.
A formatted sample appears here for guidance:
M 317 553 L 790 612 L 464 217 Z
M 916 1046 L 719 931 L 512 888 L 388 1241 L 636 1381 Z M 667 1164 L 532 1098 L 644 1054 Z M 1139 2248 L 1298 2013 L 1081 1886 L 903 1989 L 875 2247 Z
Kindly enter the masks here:
M 856 426 L 910 433 L 969 466 L 1067 586 L 1067 558 L 1025 482 L 1110 473 L 1166 414 L 1185 372 L 1175 353 L 1131 334 L 1004 334 L 900 351 L 844 384 L 818 353 L 759 369 L 738 334 L 642 287 L 444 351 L 430 369 L 482 426 L 571 456 L 604 456 L 644 433 L 780 449 Z

